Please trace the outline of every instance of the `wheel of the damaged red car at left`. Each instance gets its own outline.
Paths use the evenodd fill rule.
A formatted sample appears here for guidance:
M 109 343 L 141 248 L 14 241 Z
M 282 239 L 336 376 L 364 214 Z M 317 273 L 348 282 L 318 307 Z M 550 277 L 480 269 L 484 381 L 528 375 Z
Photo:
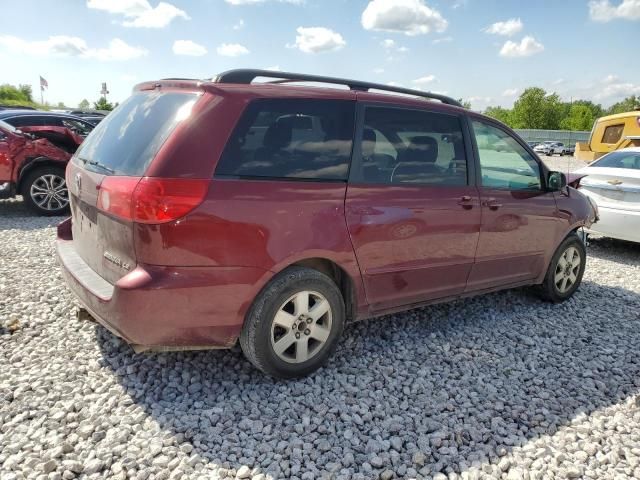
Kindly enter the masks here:
M 63 168 L 34 169 L 22 182 L 21 193 L 27 207 L 38 215 L 54 216 L 69 213 L 69 191 Z

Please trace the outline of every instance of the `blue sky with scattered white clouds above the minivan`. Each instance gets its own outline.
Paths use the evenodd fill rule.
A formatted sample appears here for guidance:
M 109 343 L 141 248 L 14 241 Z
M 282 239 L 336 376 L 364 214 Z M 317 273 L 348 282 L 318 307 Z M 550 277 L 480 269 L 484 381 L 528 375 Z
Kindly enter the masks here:
M 640 0 L 0 0 L 0 83 L 74 107 L 141 81 L 270 68 L 511 106 L 640 95 Z

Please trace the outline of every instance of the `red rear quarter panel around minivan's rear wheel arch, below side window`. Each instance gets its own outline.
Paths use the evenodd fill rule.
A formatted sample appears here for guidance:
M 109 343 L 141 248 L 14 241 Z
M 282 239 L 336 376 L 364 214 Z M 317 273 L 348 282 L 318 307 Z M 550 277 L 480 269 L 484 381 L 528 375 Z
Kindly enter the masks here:
M 136 224 L 138 261 L 263 269 L 243 315 L 273 275 L 297 261 L 323 258 L 351 277 L 361 311 L 365 296 L 345 222 L 345 191 L 341 182 L 214 179 L 202 205 L 185 218 Z

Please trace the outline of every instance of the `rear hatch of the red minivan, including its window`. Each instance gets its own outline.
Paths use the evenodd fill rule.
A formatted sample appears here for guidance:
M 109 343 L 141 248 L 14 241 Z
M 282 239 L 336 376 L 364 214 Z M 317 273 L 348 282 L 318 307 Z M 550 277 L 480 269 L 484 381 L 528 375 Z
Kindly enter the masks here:
M 158 206 L 166 205 L 156 197 L 173 198 L 176 186 L 169 182 L 167 190 L 144 175 L 197 100 L 189 92 L 136 92 L 96 126 L 69 163 L 73 246 L 110 283 L 137 265 L 134 223 L 170 219 L 158 218 Z

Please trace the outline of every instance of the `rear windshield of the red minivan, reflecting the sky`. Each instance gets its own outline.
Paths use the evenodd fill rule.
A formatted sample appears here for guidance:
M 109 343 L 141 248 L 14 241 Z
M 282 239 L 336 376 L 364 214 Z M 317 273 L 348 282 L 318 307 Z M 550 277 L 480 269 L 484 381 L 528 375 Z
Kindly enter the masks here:
M 197 100 L 195 93 L 134 93 L 95 127 L 78 149 L 76 158 L 86 169 L 98 173 L 143 175 Z

